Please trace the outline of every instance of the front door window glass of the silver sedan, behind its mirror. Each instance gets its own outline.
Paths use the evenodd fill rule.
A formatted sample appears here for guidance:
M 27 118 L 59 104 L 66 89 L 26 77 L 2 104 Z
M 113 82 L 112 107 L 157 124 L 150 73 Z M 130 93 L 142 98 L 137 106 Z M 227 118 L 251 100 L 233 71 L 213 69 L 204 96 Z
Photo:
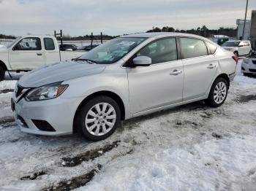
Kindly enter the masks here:
M 160 39 L 146 45 L 137 53 L 137 56 L 148 56 L 154 63 L 165 63 L 177 60 L 176 39 Z

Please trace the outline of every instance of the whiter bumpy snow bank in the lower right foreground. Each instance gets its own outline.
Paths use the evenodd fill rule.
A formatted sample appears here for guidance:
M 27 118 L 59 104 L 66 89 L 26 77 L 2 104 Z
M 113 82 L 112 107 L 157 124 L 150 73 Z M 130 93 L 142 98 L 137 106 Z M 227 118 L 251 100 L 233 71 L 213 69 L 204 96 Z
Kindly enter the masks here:
M 256 132 L 255 132 L 256 133 Z M 213 139 L 188 149 L 129 157 L 78 190 L 241 190 L 256 179 L 256 136 Z

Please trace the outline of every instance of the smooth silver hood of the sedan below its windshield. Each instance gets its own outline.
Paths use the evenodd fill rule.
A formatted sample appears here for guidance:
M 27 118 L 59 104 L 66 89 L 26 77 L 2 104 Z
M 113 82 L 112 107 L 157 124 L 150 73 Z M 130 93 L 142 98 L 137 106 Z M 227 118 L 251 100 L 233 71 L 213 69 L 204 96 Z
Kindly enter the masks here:
M 105 69 L 102 64 L 90 64 L 87 62 L 61 62 L 51 66 L 35 69 L 20 78 L 18 84 L 22 87 L 39 87 L 54 82 L 84 77 L 91 74 L 99 74 Z

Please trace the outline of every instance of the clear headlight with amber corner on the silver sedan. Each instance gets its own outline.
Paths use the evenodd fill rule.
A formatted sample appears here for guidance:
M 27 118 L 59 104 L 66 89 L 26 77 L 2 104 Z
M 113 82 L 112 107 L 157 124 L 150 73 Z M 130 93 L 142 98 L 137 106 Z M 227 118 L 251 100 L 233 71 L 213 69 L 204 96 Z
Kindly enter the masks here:
M 46 99 L 57 98 L 64 90 L 67 89 L 69 85 L 61 85 L 61 82 L 45 85 L 42 87 L 37 87 L 31 90 L 28 95 L 26 95 L 26 101 L 41 101 Z

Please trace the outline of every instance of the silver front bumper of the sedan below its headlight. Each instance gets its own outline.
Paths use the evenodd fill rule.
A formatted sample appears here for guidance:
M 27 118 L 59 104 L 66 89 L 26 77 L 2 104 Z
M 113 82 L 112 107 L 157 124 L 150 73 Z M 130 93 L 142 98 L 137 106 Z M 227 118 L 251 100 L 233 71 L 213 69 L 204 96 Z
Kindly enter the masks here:
M 54 98 L 45 101 L 26 101 L 22 98 L 12 104 L 14 118 L 20 130 L 45 136 L 67 135 L 73 132 L 75 112 L 80 104 L 79 98 Z M 34 121 L 48 122 L 53 130 L 39 129 Z

